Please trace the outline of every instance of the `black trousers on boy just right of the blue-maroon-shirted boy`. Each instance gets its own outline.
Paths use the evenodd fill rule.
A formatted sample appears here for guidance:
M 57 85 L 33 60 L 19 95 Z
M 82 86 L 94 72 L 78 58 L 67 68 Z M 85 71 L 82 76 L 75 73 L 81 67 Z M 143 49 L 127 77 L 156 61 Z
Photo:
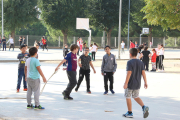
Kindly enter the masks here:
M 79 80 L 77 83 L 77 89 L 79 88 L 79 86 L 81 85 L 81 82 L 84 79 L 84 76 L 86 77 L 86 86 L 87 86 L 87 91 L 90 90 L 90 69 L 89 70 L 84 70 L 82 68 L 80 68 L 79 70 Z

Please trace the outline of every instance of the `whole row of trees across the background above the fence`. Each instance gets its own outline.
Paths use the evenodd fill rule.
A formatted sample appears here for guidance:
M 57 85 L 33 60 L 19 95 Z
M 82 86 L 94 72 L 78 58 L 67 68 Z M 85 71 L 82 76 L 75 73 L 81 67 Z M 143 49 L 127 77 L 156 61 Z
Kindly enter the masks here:
M 152 36 L 179 36 L 179 8 L 177 0 L 131 0 L 130 36 L 139 36 L 142 27 L 150 28 L 149 42 Z M 92 35 L 106 31 L 110 45 L 112 33 L 118 35 L 119 0 L 4 0 L 5 30 L 13 37 L 15 33 L 63 35 L 66 44 L 68 35 L 88 36 L 75 29 L 77 17 L 90 18 Z M 127 35 L 127 18 L 128 0 L 123 0 L 123 36 Z

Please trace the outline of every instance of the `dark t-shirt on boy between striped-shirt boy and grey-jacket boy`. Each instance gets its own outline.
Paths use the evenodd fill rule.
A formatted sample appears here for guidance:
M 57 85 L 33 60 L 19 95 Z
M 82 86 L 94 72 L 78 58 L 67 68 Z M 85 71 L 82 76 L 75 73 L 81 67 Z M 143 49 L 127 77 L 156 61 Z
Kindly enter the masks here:
M 91 57 L 89 55 L 88 56 L 81 55 L 79 59 L 81 59 L 81 64 L 82 64 L 81 68 L 84 70 L 89 70 L 90 69 L 89 62 L 91 61 Z

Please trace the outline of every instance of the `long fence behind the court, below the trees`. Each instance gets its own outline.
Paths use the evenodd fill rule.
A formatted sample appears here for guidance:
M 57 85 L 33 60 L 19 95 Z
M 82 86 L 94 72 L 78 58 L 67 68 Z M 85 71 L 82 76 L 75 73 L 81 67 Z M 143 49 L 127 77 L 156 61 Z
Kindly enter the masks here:
M 19 46 L 19 36 L 25 35 L 16 35 L 15 36 L 15 46 Z M 33 46 L 35 40 L 41 41 L 42 36 L 34 36 L 34 35 L 26 35 L 28 46 Z M 47 40 L 48 47 L 63 47 L 63 37 L 62 36 L 45 36 Z M 70 46 L 71 44 L 76 43 L 78 37 L 67 37 L 67 44 Z M 88 45 L 88 37 L 82 37 L 83 42 L 86 42 Z M 139 37 L 130 37 L 130 40 L 133 42 L 137 41 L 139 44 Z M 122 37 L 127 46 L 127 37 Z M 141 43 L 148 43 L 148 37 L 142 37 Z M 99 47 L 104 47 L 107 43 L 107 38 L 103 40 L 103 37 L 91 37 L 91 43 L 96 42 Z M 104 44 L 105 43 L 105 44 Z M 158 44 L 163 44 L 165 47 L 180 47 L 180 37 L 152 37 L 152 47 L 156 47 Z M 111 37 L 111 47 L 118 48 L 118 37 Z

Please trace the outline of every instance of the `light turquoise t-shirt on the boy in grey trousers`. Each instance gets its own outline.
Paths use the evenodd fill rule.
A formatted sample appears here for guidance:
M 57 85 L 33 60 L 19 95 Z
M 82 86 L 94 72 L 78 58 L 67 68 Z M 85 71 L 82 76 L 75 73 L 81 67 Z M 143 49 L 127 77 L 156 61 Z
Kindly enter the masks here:
M 26 60 L 25 66 L 27 66 L 27 78 L 40 79 L 40 74 L 36 67 L 41 66 L 38 59 L 30 57 Z

